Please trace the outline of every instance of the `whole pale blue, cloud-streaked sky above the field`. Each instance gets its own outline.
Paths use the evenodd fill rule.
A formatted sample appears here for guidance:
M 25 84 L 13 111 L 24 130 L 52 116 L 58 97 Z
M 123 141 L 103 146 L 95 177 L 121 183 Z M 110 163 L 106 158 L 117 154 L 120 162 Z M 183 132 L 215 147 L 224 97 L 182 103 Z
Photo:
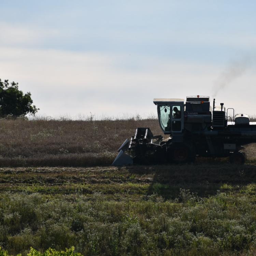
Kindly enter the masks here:
M 0 78 L 40 115 L 155 113 L 216 96 L 255 114 L 255 1 L 1 1 Z M 217 94 L 216 94 L 217 91 Z

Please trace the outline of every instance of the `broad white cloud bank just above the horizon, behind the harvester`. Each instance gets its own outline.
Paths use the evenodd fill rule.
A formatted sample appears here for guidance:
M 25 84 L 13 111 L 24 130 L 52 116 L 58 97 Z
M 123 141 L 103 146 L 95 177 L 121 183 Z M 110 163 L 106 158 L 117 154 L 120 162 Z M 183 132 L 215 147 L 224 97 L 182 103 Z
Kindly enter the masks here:
M 0 78 L 19 82 L 39 113 L 51 116 L 154 113 L 153 98 L 211 96 L 223 69 L 140 55 L 0 48 Z M 248 70 L 221 89 L 217 101 L 254 114 L 255 82 Z

